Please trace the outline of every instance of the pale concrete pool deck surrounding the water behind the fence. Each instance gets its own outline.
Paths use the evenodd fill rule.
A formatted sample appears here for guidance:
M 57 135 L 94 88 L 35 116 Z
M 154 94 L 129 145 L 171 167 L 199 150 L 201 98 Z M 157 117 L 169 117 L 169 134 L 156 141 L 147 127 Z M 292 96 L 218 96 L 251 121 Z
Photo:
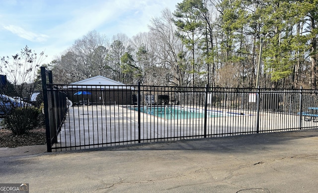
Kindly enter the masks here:
M 187 107 L 184 108 L 186 109 Z M 220 113 L 219 109 L 210 109 L 210 111 L 212 110 Z M 236 114 L 238 113 L 237 110 L 226 110 L 223 114 L 230 116 L 207 119 L 208 136 L 227 136 L 232 135 L 231 133 L 255 132 L 256 112 L 240 111 L 242 114 Z M 297 115 L 263 112 L 260 117 L 260 131 L 268 130 L 266 132 L 273 132 L 299 127 Z M 137 121 L 137 112 L 127 106 L 72 107 L 58 136 L 59 143 L 54 144 L 53 148 L 59 149 L 63 147 L 60 150 L 73 150 L 129 144 L 129 141 L 137 143 Z M 156 138 L 159 138 L 159 141 L 166 139 L 191 139 L 193 138 L 191 135 L 202 137 L 204 134 L 203 123 L 203 118 L 166 120 L 147 113 L 141 113 L 141 141 L 154 142 L 157 140 Z M 303 121 L 302 126 L 308 127 L 309 124 L 311 124 L 311 127 L 318 126 L 318 123 L 305 121 Z

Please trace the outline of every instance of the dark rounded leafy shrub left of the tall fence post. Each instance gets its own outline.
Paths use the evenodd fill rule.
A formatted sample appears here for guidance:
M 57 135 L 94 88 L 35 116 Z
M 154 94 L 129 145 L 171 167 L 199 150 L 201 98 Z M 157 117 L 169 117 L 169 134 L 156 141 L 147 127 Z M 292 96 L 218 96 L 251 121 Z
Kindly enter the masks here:
M 3 118 L 1 125 L 14 135 L 22 135 L 39 126 L 39 114 L 33 107 L 14 108 Z

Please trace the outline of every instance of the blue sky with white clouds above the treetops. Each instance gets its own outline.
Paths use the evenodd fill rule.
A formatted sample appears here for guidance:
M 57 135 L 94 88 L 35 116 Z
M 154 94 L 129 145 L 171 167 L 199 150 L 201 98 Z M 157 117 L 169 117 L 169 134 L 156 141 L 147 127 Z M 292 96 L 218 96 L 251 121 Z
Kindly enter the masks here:
M 182 0 L 0 0 L 0 57 L 27 45 L 50 63 L 90 31 L 111 40 L 149 31 L 152 18 Z

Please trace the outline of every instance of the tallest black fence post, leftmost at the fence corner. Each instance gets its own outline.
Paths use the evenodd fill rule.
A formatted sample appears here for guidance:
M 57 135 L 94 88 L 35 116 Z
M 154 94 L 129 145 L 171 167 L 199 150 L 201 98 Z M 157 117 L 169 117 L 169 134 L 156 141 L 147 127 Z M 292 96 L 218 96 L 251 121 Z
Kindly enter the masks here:
M 42 78 L 44 117 L 45 117 L 46 146 L 47 146 L 47 151 L 52 152 L 48 92 L 47 92 L 47 85 L 46 85 L 46 69 L 43 66 L 41 66 L 41 78 Z

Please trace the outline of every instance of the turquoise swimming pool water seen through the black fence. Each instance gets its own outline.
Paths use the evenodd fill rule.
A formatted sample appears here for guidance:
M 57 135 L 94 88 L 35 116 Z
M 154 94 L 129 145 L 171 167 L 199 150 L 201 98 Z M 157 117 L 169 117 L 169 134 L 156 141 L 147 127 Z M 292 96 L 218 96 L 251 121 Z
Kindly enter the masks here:
M 138 108 L 132 108 L 138 111 Z M 157 116 L 159 118 L 173 120 L 173 119 L 197 119 L 204 118 L 204 112 L 199 109 L 183 108 L 183 107 L 142 107 L 142 113 Z M 208 117 L 222 117 L 222 114 L 217 112 L 208 111 Z

